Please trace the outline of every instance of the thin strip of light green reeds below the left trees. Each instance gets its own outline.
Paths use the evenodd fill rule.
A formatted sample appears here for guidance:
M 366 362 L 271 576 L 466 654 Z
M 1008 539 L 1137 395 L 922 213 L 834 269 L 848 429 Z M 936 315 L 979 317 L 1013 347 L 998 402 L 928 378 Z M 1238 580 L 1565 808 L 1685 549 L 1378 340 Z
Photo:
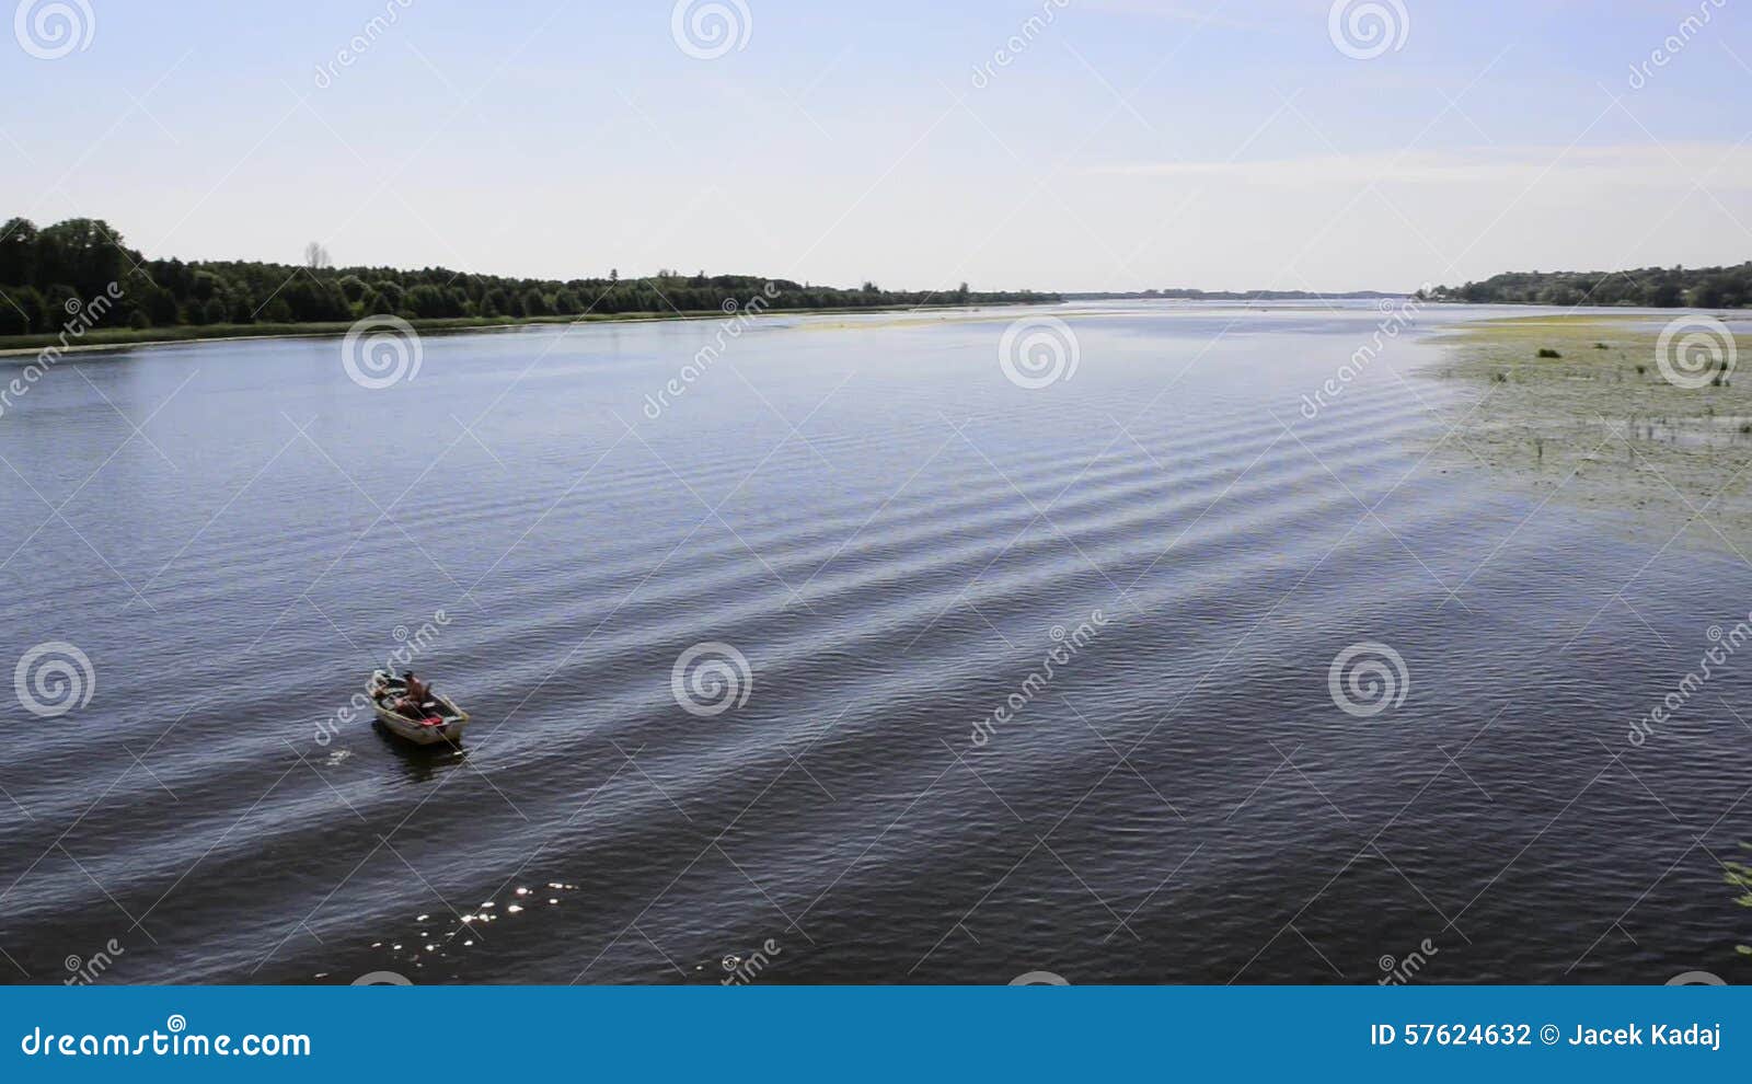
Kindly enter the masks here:
M 958 305 L 858 305 L 844 308 L 766 308 L 760 315 L 848 315 L 860 312 L 950 312 L 955 308 L 1009 308 L 1016 305 L 1056 305 L 1056 299 L 1042 301 L 978 301 Z M 468 331 L 512 331 L 517 327 L 573 326 L 573 324 L 659 324 L 664 320 L 711 320 L 734 319 L 722 308 L 692 312 L 615 312 L 587 313 L 582 317 L 442 317 L 426 320 L 408 320 L 420 334 L 461 334 Z M 0 359 L 30 357 L 54 347 L 61 354 L 96 354 L 105 350 L 131 350 L 135 347 L 179 347 L 187 343 L 247 343 L 287 338 L 340 338 L 347 334 L 357 320 L 324 320 L 310 324 L 208 324 L 179 327 L 96 327 L 79 338 L 77 343 L 61 347 L 58 334 L 11 334 L 0 336 Z

